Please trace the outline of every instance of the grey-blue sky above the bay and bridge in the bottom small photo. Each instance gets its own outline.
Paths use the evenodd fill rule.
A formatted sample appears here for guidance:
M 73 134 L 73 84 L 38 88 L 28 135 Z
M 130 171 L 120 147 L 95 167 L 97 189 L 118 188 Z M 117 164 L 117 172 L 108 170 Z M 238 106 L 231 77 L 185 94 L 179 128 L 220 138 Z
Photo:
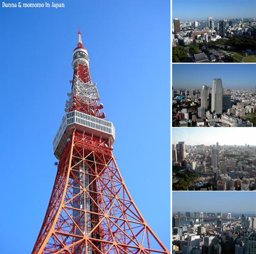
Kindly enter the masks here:
M 255 213 L 255 191 L 173 191 L 173 212 Z

